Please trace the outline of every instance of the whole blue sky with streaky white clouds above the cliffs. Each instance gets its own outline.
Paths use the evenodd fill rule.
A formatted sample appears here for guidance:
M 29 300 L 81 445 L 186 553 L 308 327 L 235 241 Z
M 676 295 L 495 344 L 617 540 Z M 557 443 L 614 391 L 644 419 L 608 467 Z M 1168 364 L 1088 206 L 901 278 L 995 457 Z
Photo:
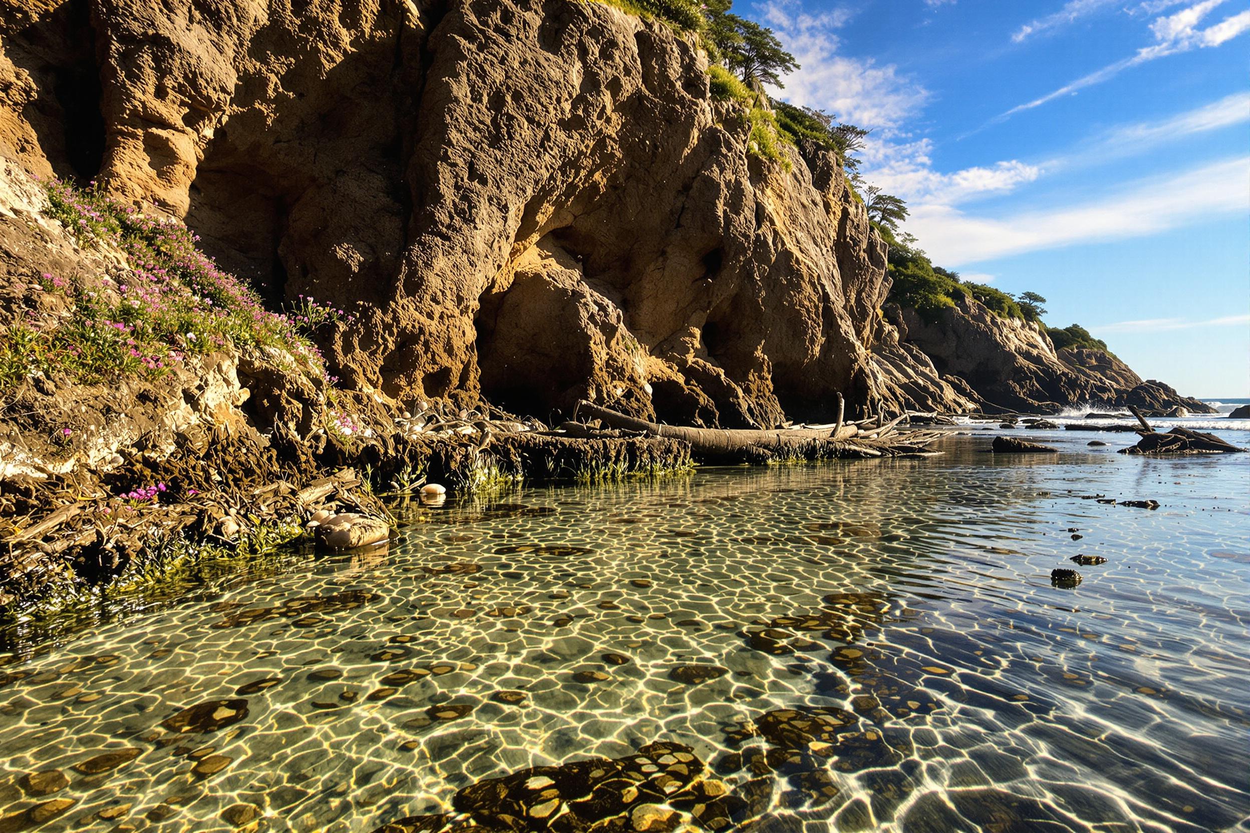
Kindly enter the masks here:
M 939 266 L 1250 396 L 1250 0 L 738 0 Z

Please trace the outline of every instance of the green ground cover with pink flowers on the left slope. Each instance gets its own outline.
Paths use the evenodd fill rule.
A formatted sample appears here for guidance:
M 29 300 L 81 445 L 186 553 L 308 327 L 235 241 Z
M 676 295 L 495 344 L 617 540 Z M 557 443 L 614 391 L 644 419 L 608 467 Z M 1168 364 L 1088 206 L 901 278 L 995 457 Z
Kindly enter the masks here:
M 44 274 L 36 293 L 61 300 L 31 297 L 24 315 L 0 325 L 0 391 L 39 373 L 89 383 L 159 375 L 198 353 L 248 347 L 275 347 L 298 370 L 330 381 L 309 333 L 349 320 L 346 312 L 304 296 L 285 312 L 266 310 L 178 220 L 124 205 L 94 182 L 78 189 L 49 180 L 44 189 L 45 214 L 79 246 L 112 246 L 126 267 Z

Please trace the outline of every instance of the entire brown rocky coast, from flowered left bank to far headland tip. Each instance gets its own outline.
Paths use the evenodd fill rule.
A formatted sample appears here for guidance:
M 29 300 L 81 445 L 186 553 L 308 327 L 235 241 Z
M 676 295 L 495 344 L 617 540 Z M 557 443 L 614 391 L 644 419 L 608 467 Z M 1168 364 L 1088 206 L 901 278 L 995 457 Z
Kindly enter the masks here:
M 662 16 L 575 0 L 9 2 L 0 536 L 26 555 L 0 572 L 124 572 L 158 492 L 196 507 L 166 532 L 239 547 L 266 483 L 288 533 L 379 511 L 304 491 L 341 466 L 404 492 L 689 463 L 521 431 L 581 400 L 728 428 L 839 397 L 1210 410 L 975 293 L 906 306 L 845 155 L 774 142 L 709 70 Z

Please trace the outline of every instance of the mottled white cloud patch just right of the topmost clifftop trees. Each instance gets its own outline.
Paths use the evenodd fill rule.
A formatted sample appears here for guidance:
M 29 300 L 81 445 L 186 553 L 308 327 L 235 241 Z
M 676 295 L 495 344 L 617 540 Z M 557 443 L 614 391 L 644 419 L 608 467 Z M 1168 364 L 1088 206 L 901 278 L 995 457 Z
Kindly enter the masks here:
M 800 66 L 786 76 L 785 90 L 774 91 L 778 97 L 885 135 L 895 135 L 928 101 L 928 90 L 900 75 L 892 64 L 838 54 L 835 30 L 850 20 L 850 10 L 811 15 L 794 0 L 771 0 L 760 11 Z

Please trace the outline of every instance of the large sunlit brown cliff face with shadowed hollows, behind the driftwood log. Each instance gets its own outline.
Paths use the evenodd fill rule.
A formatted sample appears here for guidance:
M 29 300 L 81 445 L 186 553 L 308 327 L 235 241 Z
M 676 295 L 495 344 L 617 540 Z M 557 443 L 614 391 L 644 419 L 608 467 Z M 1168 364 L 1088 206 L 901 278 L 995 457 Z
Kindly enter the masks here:
M 0 142 L 184 216 L 344 383 L 726 426 L 971 401 L 879 308 L 838 160 L 750 152 L 691 39 L 575 0 L 18 0 Z

